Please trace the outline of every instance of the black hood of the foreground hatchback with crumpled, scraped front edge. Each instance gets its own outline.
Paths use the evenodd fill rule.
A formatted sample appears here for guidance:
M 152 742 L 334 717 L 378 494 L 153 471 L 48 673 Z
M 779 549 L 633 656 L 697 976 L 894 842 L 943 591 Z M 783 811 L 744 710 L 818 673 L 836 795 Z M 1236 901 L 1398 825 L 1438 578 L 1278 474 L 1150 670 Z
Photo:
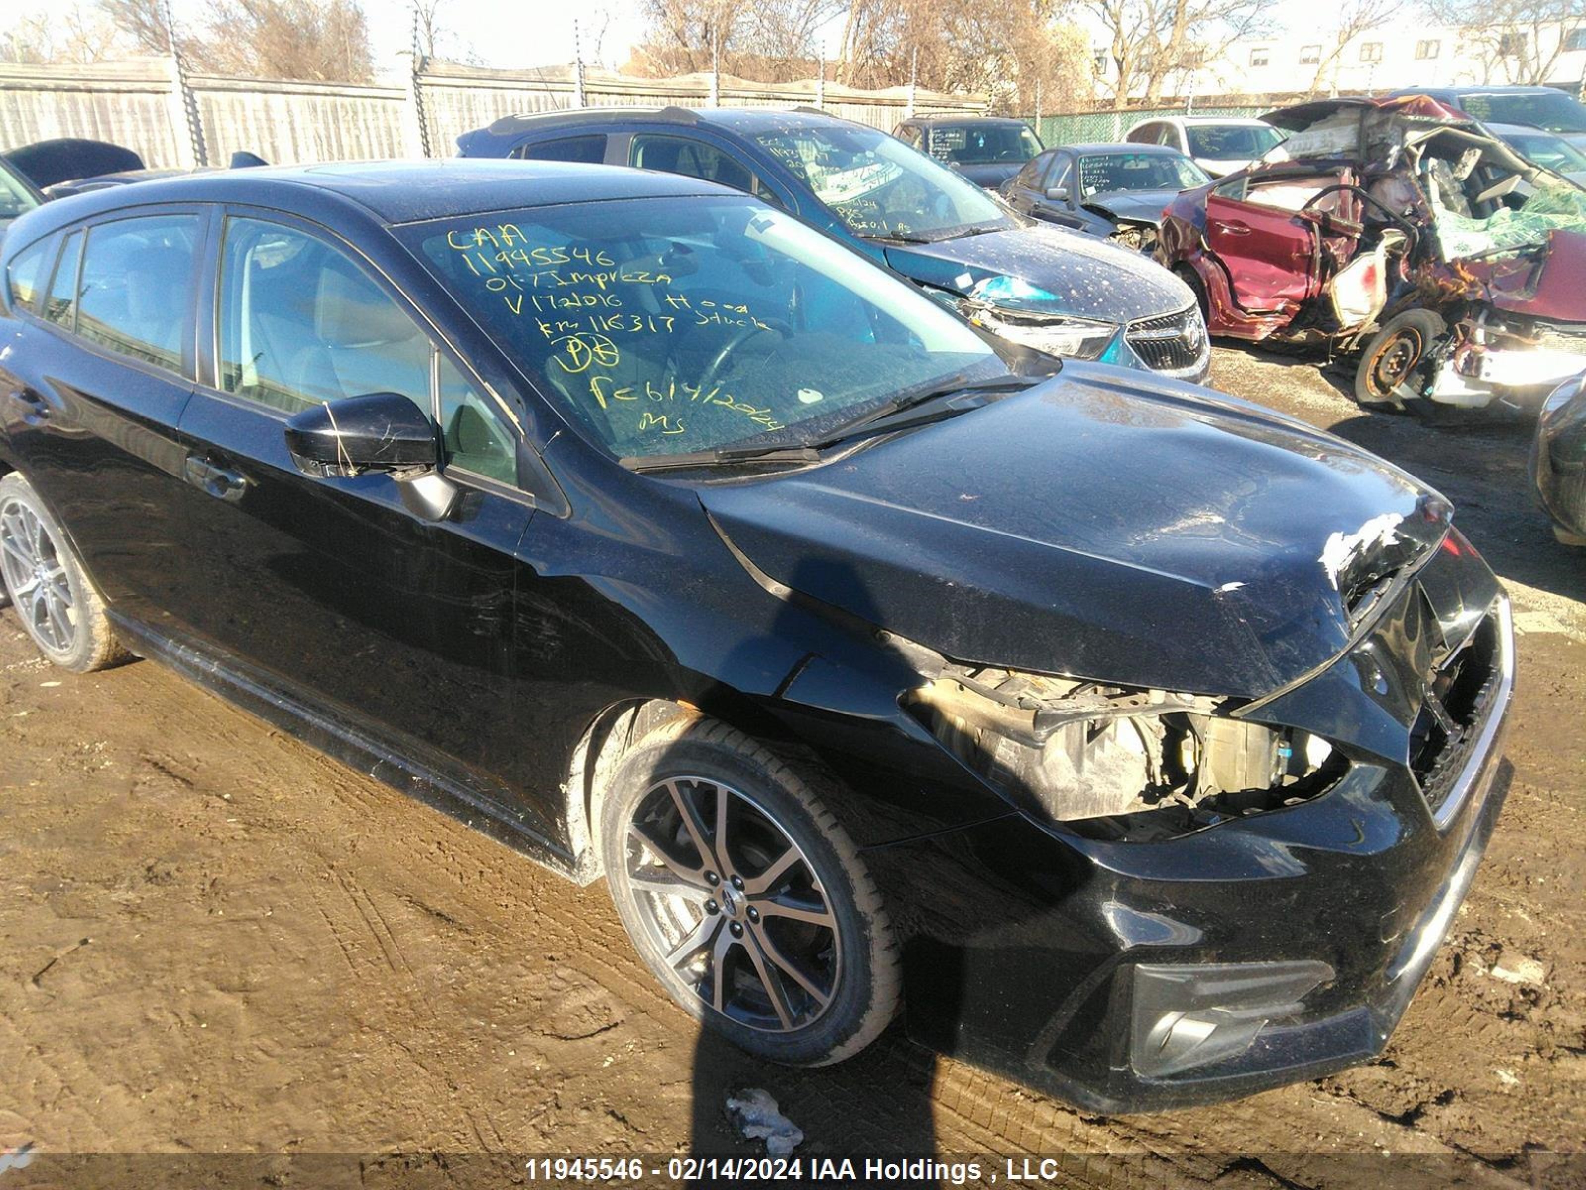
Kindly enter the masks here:
M 1078 363 L 699 500 L 772 579 L 953 660 L 1247 698 L 1347 647 L 1335 582 L 1446 527 L 1435 493 L 1345 441 Z

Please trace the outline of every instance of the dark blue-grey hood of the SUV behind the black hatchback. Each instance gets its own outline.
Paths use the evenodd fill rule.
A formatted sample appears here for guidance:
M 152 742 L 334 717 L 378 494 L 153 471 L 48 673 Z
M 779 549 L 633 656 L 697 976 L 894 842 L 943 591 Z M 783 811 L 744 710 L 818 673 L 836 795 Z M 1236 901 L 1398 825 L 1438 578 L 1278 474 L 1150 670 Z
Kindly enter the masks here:
M 1194 301 L 1183 281 L 1139 252 L 1042 225 L 934 244 L 888 244 L 887 265 L 953 294 L 974 297 L 977 287 L 990 286 L 990 292 L 1007 295 L 996 297 L 996 305 L 1037 314 L 1128 322 L 1175 314 Z

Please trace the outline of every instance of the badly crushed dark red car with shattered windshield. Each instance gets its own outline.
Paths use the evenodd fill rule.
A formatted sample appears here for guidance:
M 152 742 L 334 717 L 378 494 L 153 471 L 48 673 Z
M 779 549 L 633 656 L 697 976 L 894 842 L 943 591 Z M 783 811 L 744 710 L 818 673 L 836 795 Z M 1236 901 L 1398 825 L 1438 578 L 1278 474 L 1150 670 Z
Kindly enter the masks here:
M 1586 370 L 1586 190 L 1426 95 L 1262 119 L 1288 140 L 1163 217 L 1213 335 L 1359 351 L 1361 405 L 1426 414 Z

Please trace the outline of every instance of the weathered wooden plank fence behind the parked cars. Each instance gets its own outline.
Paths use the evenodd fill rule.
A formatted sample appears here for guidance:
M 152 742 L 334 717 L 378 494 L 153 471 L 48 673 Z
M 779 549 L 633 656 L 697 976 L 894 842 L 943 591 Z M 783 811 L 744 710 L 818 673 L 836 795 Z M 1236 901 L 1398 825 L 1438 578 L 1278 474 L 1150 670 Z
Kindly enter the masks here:
M 0 65 L 0 151 L 87 136 L 136 151 L 149 167 L 224 165 L 246 149 L 266 162 L 449 157 L 457 136 L 519 111 L 609 105 L 820 106 L 891 130 L 915 113 L 975 113 L 985 100 L 688 75 L 646 79 L 571 67 L 481 70 L 427 62 L 408 86 L 351 86 L 179 75 L 171 59 L 90 67 Z

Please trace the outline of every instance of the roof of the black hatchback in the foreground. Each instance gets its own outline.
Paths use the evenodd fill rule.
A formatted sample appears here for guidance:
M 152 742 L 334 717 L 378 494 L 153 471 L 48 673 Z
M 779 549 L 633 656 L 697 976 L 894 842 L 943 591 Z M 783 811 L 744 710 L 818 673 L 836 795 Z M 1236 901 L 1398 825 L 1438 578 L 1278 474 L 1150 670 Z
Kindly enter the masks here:
M 699 178 L 615 165 L 520 162 L 495 157 L 327 165 L 268 165 L 216 170 L 90 190 L 38 208 L 30 225 L 75 222 L 125 206 L 154 203 L 259 203 L 319 214 L 328 208 L 374 216 L 384 224 L 506 211 L 523 206 L 737 194 Z M 52 216 L 52 217 L 51 217 Z

